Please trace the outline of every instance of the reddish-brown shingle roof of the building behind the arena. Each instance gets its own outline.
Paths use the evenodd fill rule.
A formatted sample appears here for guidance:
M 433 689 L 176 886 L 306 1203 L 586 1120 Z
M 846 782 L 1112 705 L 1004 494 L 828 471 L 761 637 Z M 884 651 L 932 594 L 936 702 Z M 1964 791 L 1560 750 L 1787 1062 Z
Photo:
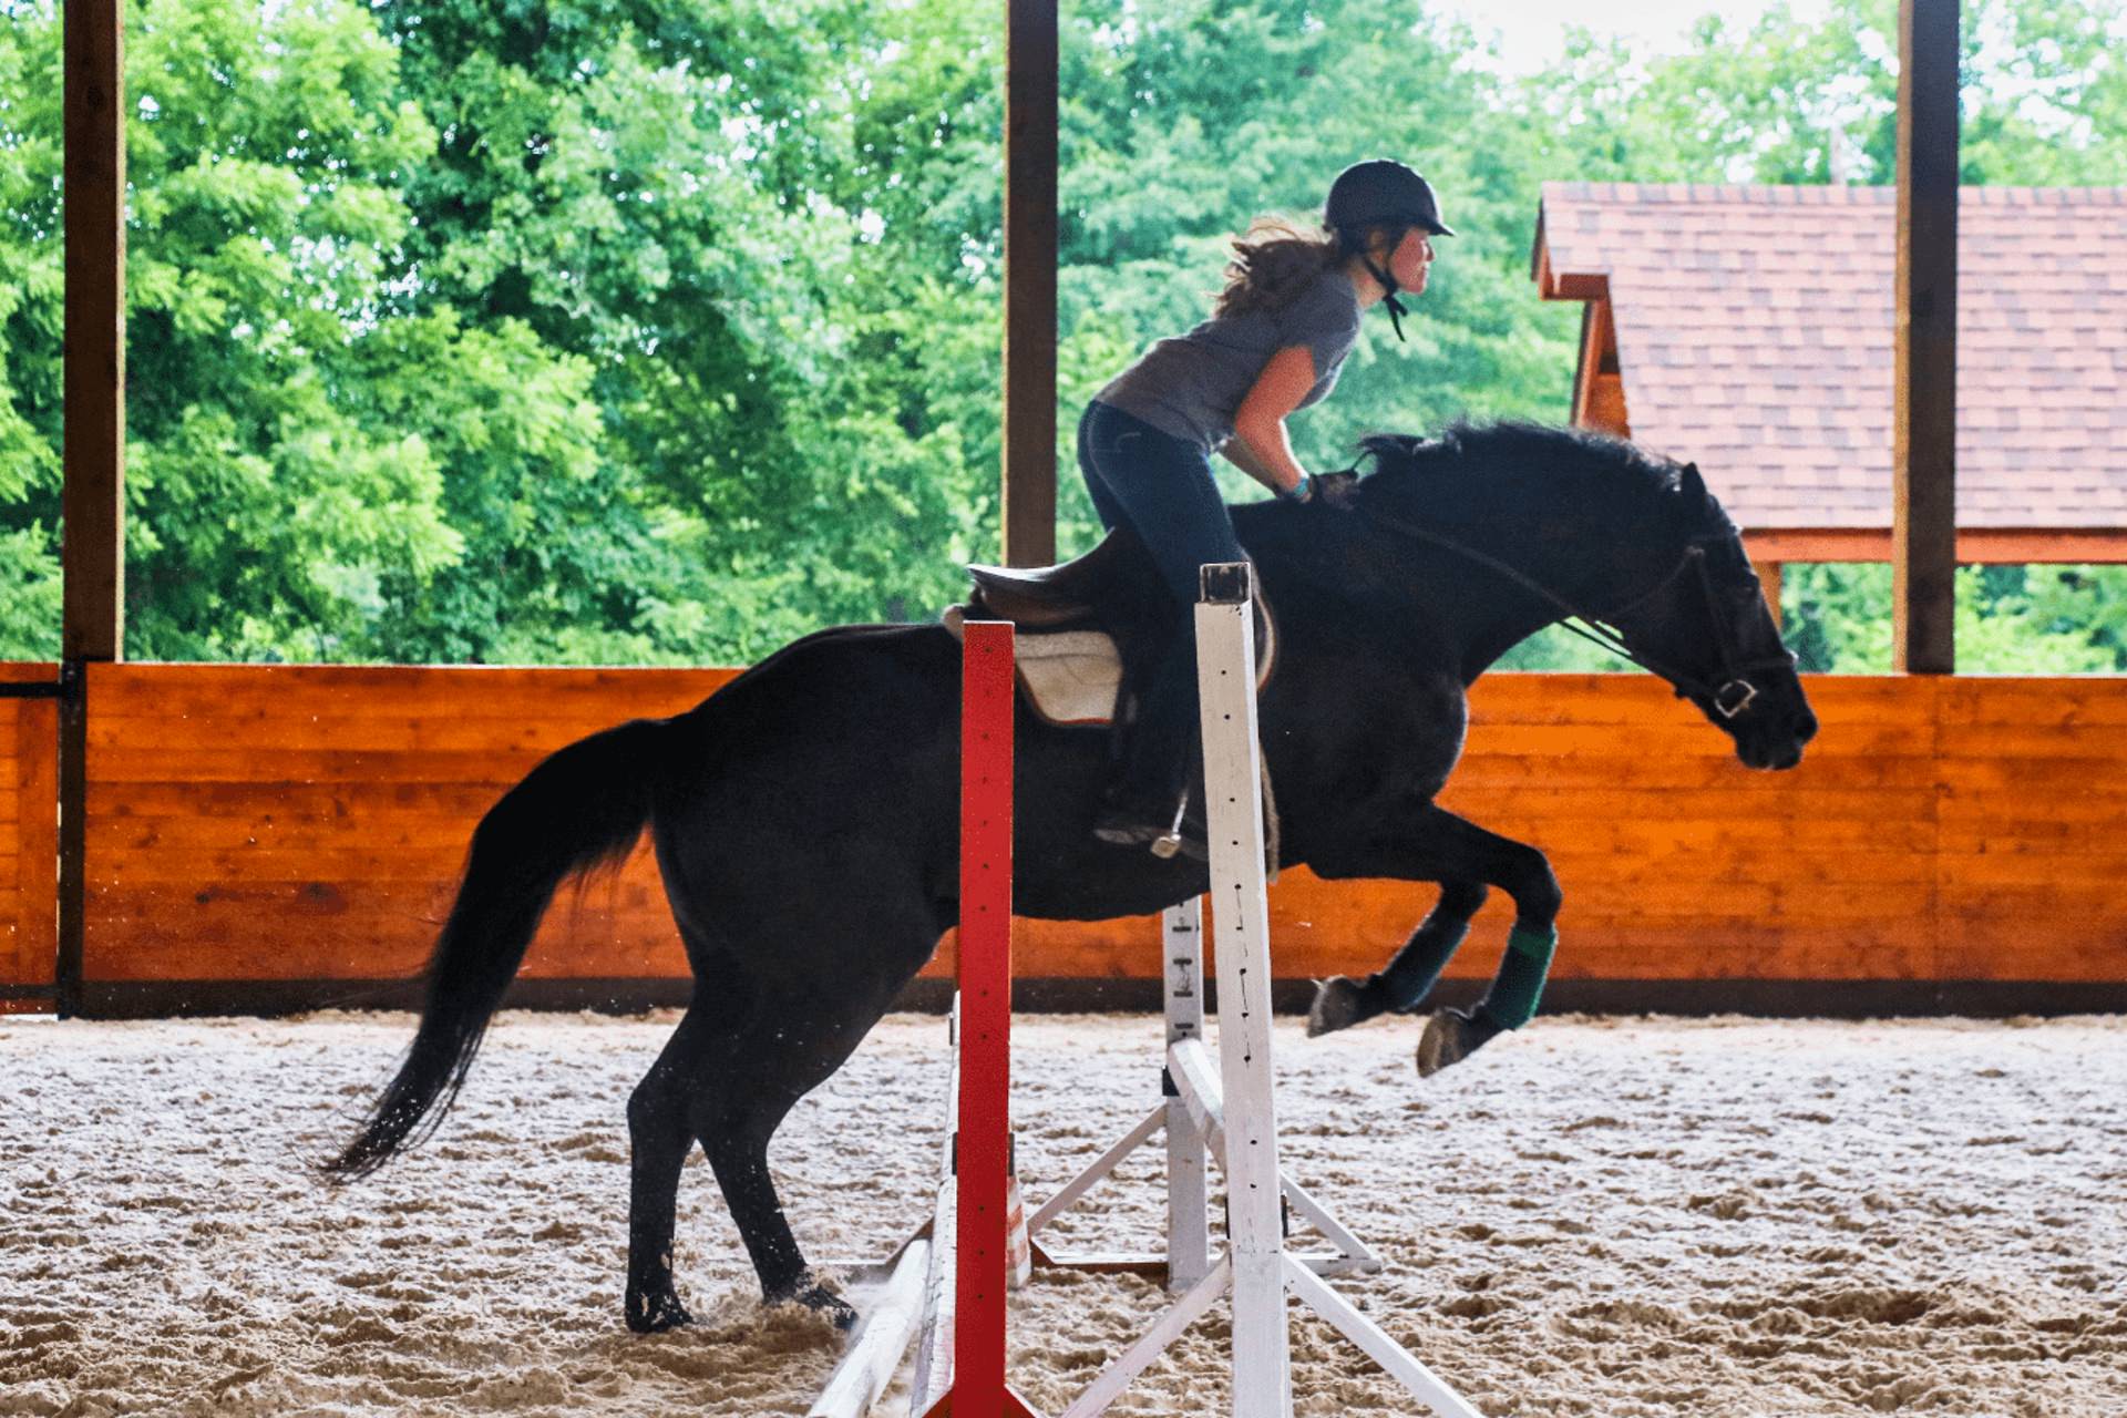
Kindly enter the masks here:
M 1891 525 L 1891 187 L 1544 183 L 1544 296 L 1608 298 L 1631 436 L 1746 529 Z M 1965 187 L 1957 517 L 2127 527 L 2127 187 Z

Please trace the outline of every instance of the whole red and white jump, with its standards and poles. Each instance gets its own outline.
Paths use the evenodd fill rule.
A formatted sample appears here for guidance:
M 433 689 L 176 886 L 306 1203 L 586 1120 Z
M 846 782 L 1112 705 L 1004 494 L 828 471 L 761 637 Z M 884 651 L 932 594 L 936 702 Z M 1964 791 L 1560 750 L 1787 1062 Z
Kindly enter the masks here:
M 1323 1276 L 1380 1261 L 1278 1165 L 1270 1069 L 1270 901 L 1261 755 L 1255 729 L 1255 606 L 1246 563 L 1206 565 L 1195 608 L 1204 714 L 1210 897 L 1219 931 L 1219 1061 L 1204 1044 L 1200 904 L 1166 914 L 1166 1097 L 1117 1146 L 1036 1212 L 1027 1231 L 1076 1203 L 1155 1133 L 1168 1135 L 1168 1254 L 1055 1259 L 1091 1269 L 1163 1271 L 1178 1299 L 1059 1418 L 1104 1414 L 1221 1297 L 1234 1307 L 1234 1418 L 1291 1418 L 1287 1299 L 1321 1314 L 1440 1418 L 1478 1418 L 1453 1388 L 1359 1314 Z M 885 1390 L 919 1327 L 910 1418 L 1036 1418 L 1004 1382 L 1010 1235 L 1010 625 L 970 623 L 961 697 L 961 935 L 953 1031 L 955 1118 L 938 1210 L 910 1242 L 813 1418 L 859 1418 Z M 1227 1186 L 1227 1244 L 1212 1252 L 1208 1163 Z M 1287 1205 L 1329 1254 L 1287 1244 Z M 1049 1259 L 1049 1256 L 1044 1256 Z M 927 1271 L 927 1276 L 925 1276 Z

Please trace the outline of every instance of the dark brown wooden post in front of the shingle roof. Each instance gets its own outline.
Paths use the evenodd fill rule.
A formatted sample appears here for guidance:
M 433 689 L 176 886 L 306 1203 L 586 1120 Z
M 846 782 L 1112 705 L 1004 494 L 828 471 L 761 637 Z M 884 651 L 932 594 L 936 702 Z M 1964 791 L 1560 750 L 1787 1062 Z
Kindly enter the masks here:
M 1897 6 L 1891 665 L 1957 668 L 1957 4 Z

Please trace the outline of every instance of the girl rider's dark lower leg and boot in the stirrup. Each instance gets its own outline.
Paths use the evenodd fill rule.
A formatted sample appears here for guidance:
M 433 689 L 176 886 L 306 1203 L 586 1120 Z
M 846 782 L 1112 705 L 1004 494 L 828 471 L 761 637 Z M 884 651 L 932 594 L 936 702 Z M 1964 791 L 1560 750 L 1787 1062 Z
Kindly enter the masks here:
M 1195 661 L 1187 640 L 1153 672 L 1136 714 L 1119 727 L 1119 761 L 1102 795 L 1093 835 L 1115 846 L 1149 846 L 1204 861 L 1202 793 L 1191 793 L 1198 750 Z

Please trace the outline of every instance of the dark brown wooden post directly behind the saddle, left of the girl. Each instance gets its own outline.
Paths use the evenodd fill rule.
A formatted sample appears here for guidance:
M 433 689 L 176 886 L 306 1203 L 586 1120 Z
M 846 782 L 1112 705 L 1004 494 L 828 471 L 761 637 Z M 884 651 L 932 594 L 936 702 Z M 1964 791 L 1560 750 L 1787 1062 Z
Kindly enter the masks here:
M 1057 559 L 1057 4 L 1006 0 L 1004 563 Z

